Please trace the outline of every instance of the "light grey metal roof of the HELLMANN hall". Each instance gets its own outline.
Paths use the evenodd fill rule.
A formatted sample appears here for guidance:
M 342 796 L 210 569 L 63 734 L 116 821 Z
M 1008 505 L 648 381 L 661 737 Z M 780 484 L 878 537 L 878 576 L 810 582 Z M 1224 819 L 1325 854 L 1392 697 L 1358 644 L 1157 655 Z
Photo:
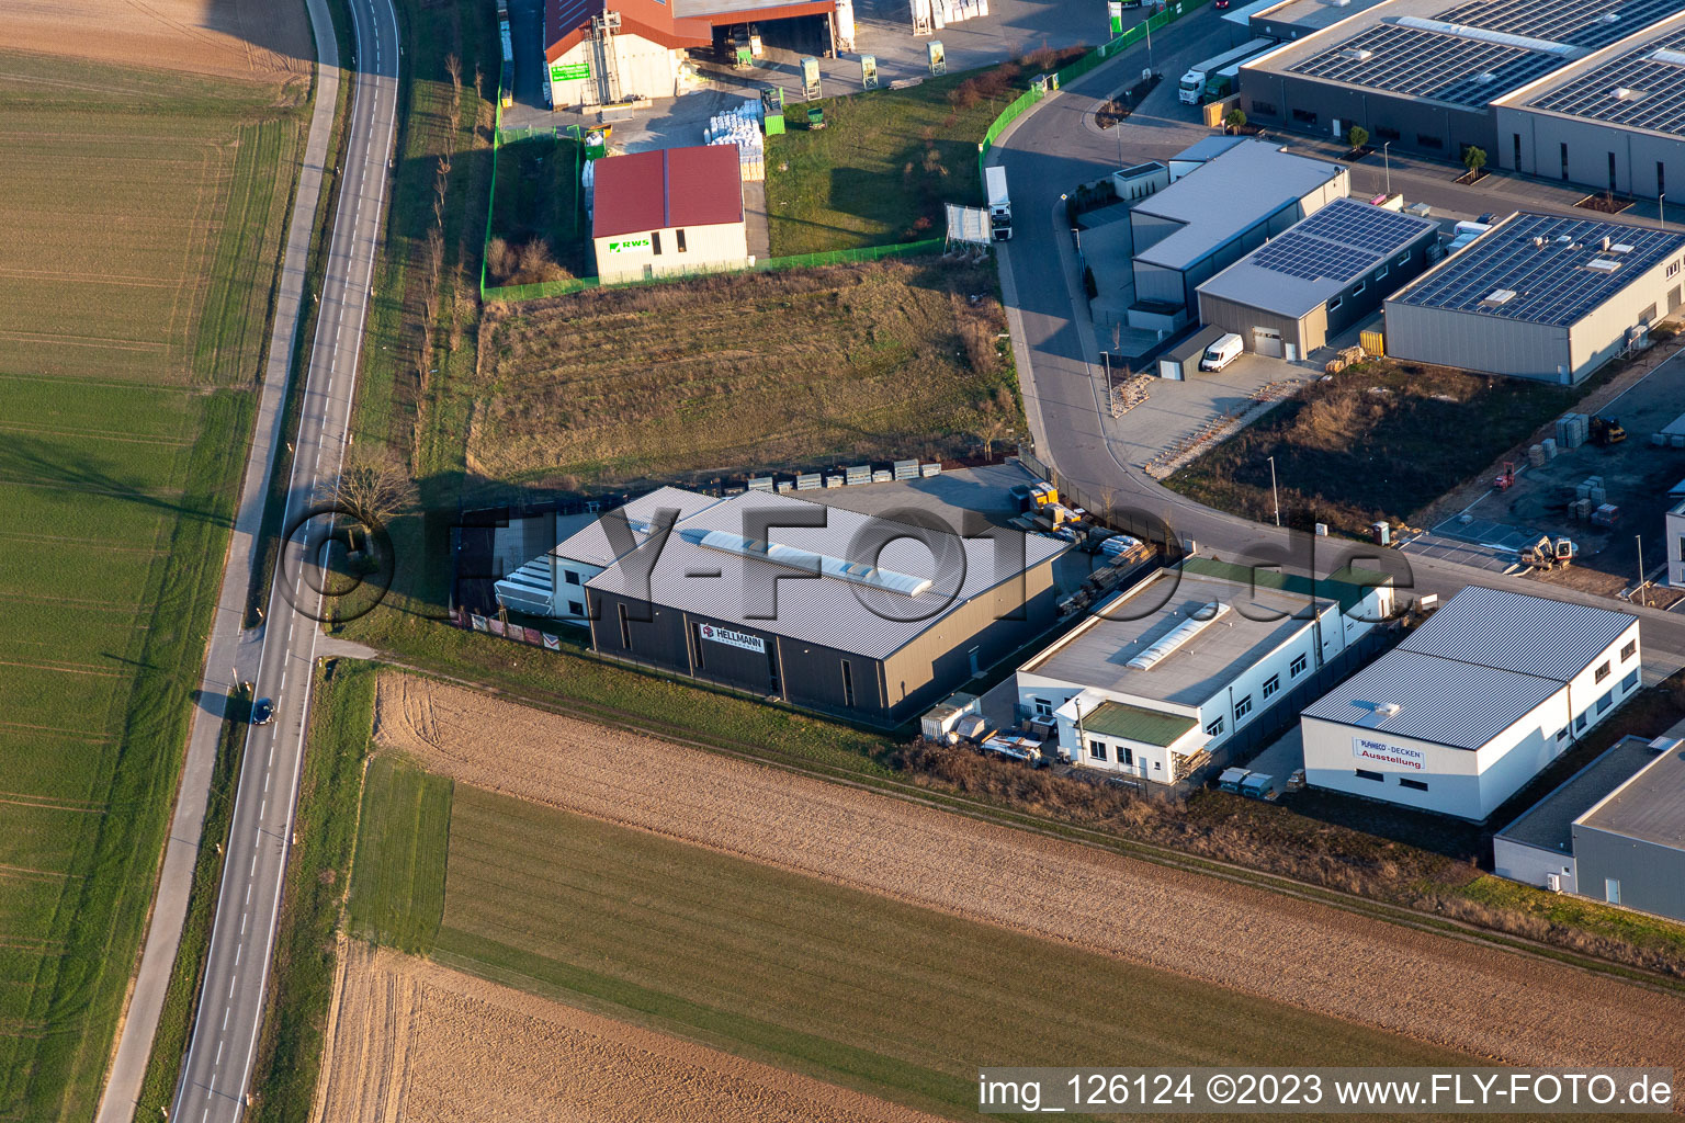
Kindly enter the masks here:
M 772 525 L 767 525 L 767 520 Z M 782 525 L 802 522 L 821 525 Z M 709 530 L 928 577 L 937 588 L 920 596 L 903 596 L 864 589 L 841 577 L 807 576 L 765 557 L 748 557 L 699 544 L 696 539 Z M 662 546 L 649 571 L 647 584 L 629 566 L 615 564 L 586 586 L 629 598 L 647 596 L 655 604 L 763 635 L 854 652 L 866 658 L 886 658 L 913 636 L 940 628 L 940 621 L 971 598 L 1068 549 L 1065 542 L 1046 535 L 998 530 L 1001 535 L 1009 535 L 1009 540 L 1023 542 L 1021 559 L 998 564 L 992 539 L 957 535 L 937 535 L 933 547 L 898 537 L 873 556 L 878 542 L 890 535 L 908 534 L 918 532 L 903 524 L 841 507 L 748 492 L 706 505 L 682 519 Z M 954 564 L 939 567 L 932 549 L 942 551 Z M 964 557 L 962 576 L 960 557 Z M 959 576 L 959 581 L 950 581 L 949 576 Z

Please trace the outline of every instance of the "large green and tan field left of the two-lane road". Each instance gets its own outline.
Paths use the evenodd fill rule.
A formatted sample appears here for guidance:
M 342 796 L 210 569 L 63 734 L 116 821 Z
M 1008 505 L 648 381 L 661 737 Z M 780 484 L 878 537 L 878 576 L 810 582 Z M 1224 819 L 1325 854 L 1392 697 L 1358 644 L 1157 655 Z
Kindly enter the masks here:
M 251 428 L 295 101 L 0 52 L 0 1118 L 94 1111 Z

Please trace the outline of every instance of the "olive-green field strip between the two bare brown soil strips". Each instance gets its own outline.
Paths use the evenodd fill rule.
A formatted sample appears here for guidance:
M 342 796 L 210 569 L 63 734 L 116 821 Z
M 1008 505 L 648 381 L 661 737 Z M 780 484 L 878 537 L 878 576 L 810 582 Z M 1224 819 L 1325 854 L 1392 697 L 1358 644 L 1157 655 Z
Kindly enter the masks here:
M 371 769 L 362 830 L 391 813 L 403 838 L 413 788 Z M 438 961 L 944 1115 L 969 1115 L 979 1064 L 1468 1062 L 477 788 L 448 835 Z M 367 870 L 359 842 L 354 901 L 409 907 Z

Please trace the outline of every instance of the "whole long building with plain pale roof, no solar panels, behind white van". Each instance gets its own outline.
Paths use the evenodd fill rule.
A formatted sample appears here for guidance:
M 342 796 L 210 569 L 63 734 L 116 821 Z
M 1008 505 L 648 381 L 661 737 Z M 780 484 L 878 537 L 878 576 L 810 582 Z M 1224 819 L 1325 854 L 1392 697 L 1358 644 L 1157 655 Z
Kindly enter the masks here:
M 1351 182 L 1338 163 L 1259 140 L 1227 146 L 1201 141 L 1169 163 L 1173 175 L 1176 167 L 1195 167 L 1129 210 L 1136 306 L 1168 315 L 1196 308 L 1195 290 L 1203 281 L 1343 199 Z M 1136 308 L 1131 325 L 1180 327 L 1137 322 Z

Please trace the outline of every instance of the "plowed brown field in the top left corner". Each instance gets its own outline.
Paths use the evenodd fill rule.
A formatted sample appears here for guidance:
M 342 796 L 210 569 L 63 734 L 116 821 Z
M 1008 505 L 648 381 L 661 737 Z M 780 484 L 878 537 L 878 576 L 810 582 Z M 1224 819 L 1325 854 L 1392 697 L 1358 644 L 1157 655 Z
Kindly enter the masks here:
M 315 57 L 303 0 L 0 0 L 0 49 L 259 81 Z

